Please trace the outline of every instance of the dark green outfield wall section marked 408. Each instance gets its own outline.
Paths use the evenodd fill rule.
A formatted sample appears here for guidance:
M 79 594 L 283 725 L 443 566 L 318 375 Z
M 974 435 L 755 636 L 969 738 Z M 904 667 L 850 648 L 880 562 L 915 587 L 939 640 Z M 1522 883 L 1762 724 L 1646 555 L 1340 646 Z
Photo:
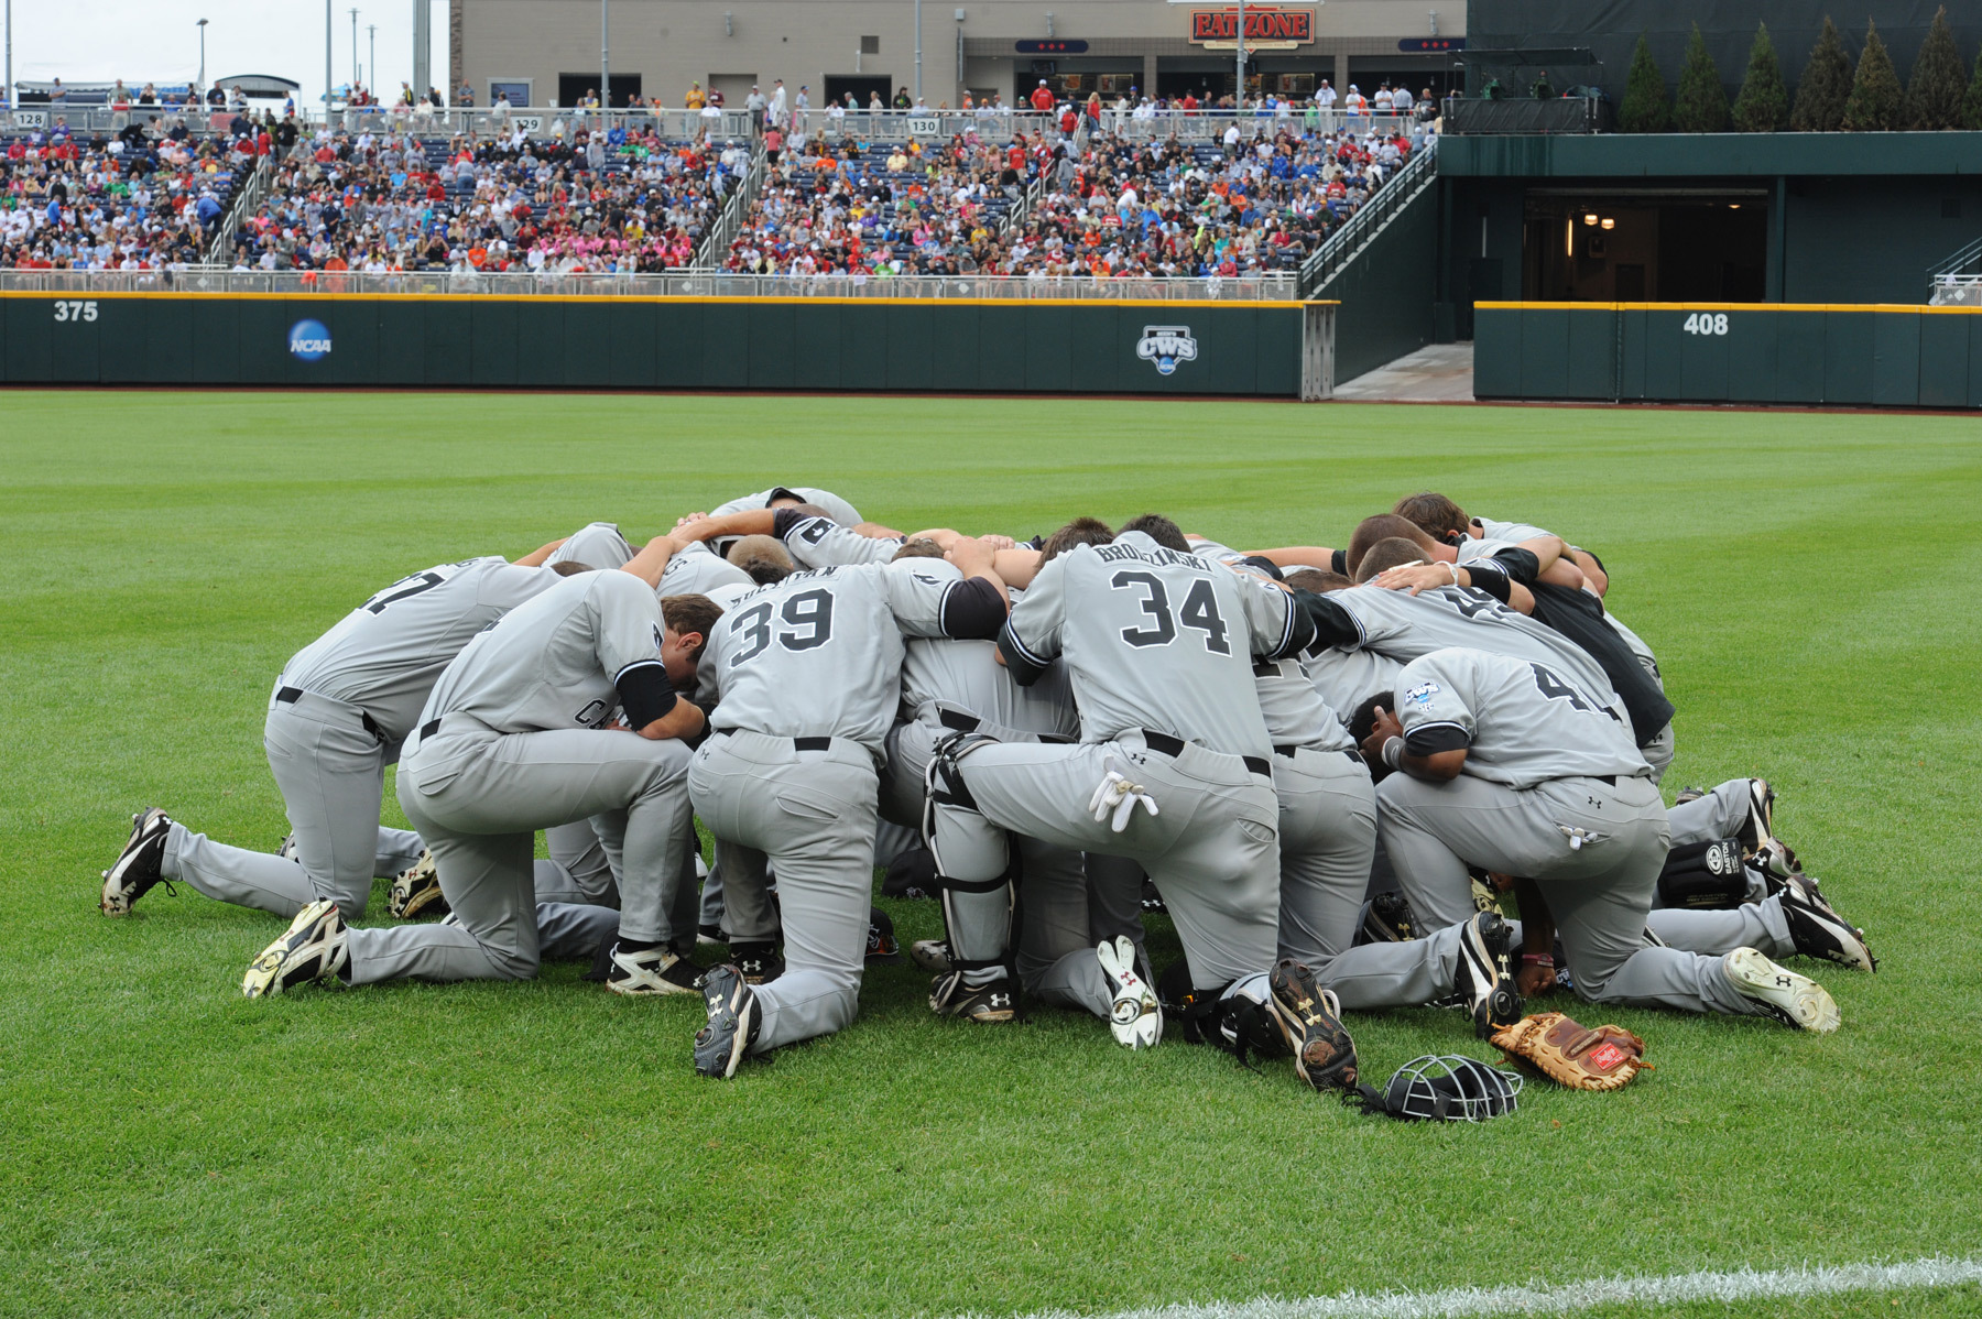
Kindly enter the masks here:
M 1982 408 L 1982 309 L 1479 303 L 1473 394 Z

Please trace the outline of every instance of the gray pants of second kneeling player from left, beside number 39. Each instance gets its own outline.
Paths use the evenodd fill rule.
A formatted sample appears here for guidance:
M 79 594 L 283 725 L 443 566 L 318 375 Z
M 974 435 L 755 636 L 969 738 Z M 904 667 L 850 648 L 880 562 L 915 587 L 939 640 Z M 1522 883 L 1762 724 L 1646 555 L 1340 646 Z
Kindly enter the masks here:
M 565 933 L 561 913 L 537 909 L 535 834 L 585 818 L 620 875 L 618 931 L 664 941 L 662 913 L 688 862 L 686 776 L 688 747 L 624 731 L 466 725 L 420 739 L 400 762 L 398 804 L 434 854 L 454 923 L 351 931 L 351 982 L 535 976 L 539 923 Z M 601 913 L 610 909 L 585 907 L 571 921 L 605 923 Z

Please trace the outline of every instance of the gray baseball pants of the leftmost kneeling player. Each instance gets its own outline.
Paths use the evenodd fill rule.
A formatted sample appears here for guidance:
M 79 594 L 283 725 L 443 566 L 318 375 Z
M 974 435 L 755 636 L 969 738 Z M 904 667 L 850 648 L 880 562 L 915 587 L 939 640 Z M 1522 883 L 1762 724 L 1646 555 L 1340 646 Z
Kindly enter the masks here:
M 420 860 L 420 836 L 379 824 L 388 751 L 365 731 L 365 711 L 313 691 L 293 703 L 270 697 L 262 725 L 268 766 L 295 834 L 291 862 L 216 844 L 172 824 L 166 879 L 196 893 L 287 919 L 331 899 L 347 921 L 365 915 L 375 875 L 396 875 Z

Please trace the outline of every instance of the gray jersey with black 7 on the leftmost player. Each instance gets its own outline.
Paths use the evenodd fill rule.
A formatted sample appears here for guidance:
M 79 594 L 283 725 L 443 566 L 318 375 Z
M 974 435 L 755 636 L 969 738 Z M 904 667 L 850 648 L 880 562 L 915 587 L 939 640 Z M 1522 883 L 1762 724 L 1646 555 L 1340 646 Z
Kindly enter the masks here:
M 478 632 L 567 580 L 507 558 L 464 558 L 402 576 L 299 650 L 281 681 L 357 705 L 402 741 L 442 669 Z

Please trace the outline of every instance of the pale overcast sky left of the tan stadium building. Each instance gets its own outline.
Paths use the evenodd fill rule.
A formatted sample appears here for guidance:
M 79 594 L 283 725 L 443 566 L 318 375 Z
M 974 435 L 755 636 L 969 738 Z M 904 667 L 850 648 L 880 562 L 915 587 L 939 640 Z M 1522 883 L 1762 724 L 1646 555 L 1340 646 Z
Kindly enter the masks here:
M 359 63 L 365 81 L 396 93 L 412 79 L 412 6 L 418 0 L 331 0 L 331 79 L 351 79 L 351 8 L 359 10 Z M 446 87 L 448 6 L 432 4 L 432 81 Z M 323 0 L 12 0 L 14 81 L 145 83 L 188 81 L 200 71 L 206 18 L 206 79 L 274 73 L 323 95 Z M 379 75 L 371 71 L 379 26 Z

